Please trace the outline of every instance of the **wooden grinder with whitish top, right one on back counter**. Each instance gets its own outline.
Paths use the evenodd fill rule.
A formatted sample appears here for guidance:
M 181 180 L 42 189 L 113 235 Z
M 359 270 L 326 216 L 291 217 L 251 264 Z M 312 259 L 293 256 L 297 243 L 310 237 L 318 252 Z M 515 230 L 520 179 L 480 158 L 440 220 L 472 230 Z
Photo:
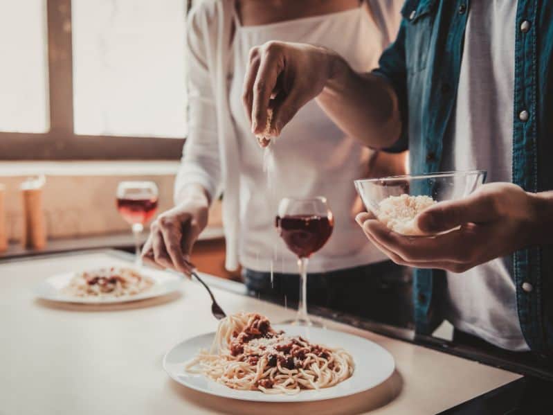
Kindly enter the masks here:
M 44 175 L 29 178 L 21 184 L 23 198 L 23 236 L 21 245 L 26 248 L 42 249 L 46 246 L 46 220 L 42 209 Z

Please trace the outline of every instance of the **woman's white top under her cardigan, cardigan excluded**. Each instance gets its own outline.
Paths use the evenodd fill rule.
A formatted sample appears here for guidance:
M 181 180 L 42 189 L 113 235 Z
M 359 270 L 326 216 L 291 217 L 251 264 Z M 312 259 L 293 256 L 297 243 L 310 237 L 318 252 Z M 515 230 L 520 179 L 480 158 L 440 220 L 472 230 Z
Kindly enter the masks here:
M 364 8 L 262 26 L 238 24 L 233 44 L 230 112 L 241 157 L 238 252 L 244 267 L 269 271 L 272 258 L 275 272 L 298 272 L 296 256 L 275 230 L 275 215 L 282 197 L 325 196 L 334 213 L 334 232 L 327 244 L 311 257 L 310 272 L 386 260 L 367 242 L 354 221 L 357 197 L 353 180 L 367 174 L 370 150 L 346 137 L 311 101 L 272 144 L 274 179 L 269 188 L 263 171 L 263 150 L 251 133 L 242 106 L 242 88 L 250 49 L 269 40 L 326 46 L 340 53 L 354 69 L 368 71 L 377 65 L 387 38 Z

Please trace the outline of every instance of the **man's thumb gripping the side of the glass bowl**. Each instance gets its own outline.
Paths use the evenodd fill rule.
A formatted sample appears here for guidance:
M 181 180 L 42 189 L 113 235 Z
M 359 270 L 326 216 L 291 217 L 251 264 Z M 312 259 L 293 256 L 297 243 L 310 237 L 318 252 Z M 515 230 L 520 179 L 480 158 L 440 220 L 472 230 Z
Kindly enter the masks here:
M 497 215 L 493 194 L 473 193 L 461 200 L 448 200 L 430 206 L 418 215 L 417 226 L 425 233 L 444 232 L 468 222 L 489 222 Z

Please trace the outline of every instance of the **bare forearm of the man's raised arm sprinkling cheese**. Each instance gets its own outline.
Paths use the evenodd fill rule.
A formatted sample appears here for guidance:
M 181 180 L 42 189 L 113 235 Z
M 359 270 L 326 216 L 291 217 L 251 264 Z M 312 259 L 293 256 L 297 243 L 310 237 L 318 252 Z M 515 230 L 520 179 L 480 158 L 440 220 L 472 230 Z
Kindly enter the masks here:
M 332 76 L 316 98 L 320 107 L 348 135 L 372 148 L 388 148 L 401 134 L 394 89 L 380 76 L 356 73 L 339 55 Z

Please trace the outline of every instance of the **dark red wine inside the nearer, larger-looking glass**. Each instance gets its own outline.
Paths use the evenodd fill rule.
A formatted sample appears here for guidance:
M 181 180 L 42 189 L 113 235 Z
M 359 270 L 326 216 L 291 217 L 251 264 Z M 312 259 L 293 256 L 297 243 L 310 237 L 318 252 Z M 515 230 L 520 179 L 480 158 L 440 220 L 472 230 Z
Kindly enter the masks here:
M 286 215 L 277 216 L 275 224 L 288 249 L 300 258 L 309 258 L 327 242 L 334 219 L 332 216 Z

